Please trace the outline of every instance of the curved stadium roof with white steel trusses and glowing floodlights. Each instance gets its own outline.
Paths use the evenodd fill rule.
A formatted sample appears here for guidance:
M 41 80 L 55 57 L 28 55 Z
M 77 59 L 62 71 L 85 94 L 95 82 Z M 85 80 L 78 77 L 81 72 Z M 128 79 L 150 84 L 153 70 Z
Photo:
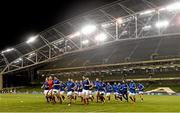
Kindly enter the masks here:
M 0 54 L 1 71 L 5 73 L 23 69 L 46 62 L 65 52 L 96 46 L 101 43 L 100 41 L 104 43 L 116 39 L 169 34 L 165 28 L 161 28 L 167 27 L 169 21 L 155 22 L 160 22 L 161 18 L 168 18 L 170 21 L 180 18 L 179 9 L 169 6 L 178 1 L 118 0 L 78 15 L 30 37 L 27 42 L 2 50 Z M 170 11 L 163 12 L 164 10 Z M 152 27 L 151 24 L 155 24 L 158 30 L 148 31 Z M 176 27 L 173 26 L 173 31 L 170 33 L 180 33 L 179 30 L 175 30 Z M 85 33 L 82 33 L 83 30 Z M 91 32 L 94 33 L 91 34 Z

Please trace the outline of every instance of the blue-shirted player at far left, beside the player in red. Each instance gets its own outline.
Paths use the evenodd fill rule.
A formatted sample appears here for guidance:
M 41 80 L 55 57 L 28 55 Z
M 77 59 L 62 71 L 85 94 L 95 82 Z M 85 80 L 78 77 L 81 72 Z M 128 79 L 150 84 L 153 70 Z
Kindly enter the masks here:
M 46 98 L 47 102 L 49 102 L 50 101 L 50 97 L 48 96 L 48 92 L 49 92 L 48 77 L 45 79 L 45 82 L 43 83 L 41 88 L 44 89 L 45 98 Z

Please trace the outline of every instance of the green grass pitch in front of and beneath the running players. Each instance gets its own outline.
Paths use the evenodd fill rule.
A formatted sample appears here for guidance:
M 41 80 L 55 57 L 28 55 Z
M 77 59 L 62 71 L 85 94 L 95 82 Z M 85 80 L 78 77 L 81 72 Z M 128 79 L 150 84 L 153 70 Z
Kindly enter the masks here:
M 145 101 L 137 103 L 116 102 L 95 103 L 82 105 L 80 102 L 71 106 L 64 102 L 62 105 L 46 103 L 41 94 L 0 94 L 0 112 L 178 112 L 180 111 L 180 96 L 145 96 Z

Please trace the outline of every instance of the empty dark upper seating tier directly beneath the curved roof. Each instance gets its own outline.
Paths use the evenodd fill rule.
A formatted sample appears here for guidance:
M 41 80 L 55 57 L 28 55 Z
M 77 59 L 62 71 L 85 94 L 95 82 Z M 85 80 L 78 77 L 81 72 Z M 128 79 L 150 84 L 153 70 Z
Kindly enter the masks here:
M 153 54 L 160 58 L 179 56 L 180 36 L 130 39 L 99 45 L 96 48 L 65 54 L 58 61 L 50 63 L 46 68 L 79 67 L 150 60 Z

